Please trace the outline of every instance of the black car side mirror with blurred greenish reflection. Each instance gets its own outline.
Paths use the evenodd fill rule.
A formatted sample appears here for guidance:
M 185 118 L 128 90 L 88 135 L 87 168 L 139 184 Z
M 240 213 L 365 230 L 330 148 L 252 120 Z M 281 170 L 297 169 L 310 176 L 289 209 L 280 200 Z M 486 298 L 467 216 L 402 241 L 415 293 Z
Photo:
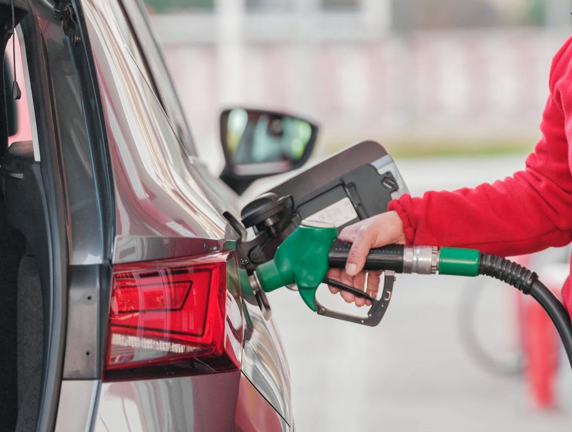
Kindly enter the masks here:
M 227 162 L 220 175 L 236 193 L 256 179 L 300 168 L 312 153 L 318 128 L 291 114 L 231 108 L 220 116 Z

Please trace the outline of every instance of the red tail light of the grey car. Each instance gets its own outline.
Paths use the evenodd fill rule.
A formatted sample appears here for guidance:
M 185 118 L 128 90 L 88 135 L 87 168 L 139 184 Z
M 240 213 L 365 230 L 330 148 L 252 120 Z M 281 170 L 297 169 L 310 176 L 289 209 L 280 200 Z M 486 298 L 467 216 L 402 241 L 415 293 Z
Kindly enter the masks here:
M 229 252 L 115 265 L 104 379 L 239 369 L 238 280 Z

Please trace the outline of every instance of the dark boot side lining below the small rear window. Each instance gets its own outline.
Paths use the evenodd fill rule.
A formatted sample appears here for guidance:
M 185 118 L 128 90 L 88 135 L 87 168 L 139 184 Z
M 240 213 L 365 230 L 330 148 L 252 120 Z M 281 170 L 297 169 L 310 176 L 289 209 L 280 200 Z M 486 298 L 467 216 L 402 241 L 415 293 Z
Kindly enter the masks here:
M 46 220 L 42 205 L 45 200 L 32 142 L 10 145 L 3 157 L 0 173 L 4 184 L 2 237 L 6 241 L 2 248 L 6 255 L 0 265 L 7 276 L 1 283 L 4 284 L 2 289 L 10 292 L 11 299 L 3 307 L 10 307 L 6 315 L 15 317 L 10 324 L 6 323 L 2 337 L 9 334 L 7 337 L 14 339 L 15 336 L 15 341 L 6 346 L 17 346 L 17 350 L 9 354 L 15 387 L 7 395 L 7 403 L 14 405 L 14 394 L 18 394 L 18 406 L 10 413 L 13 416 L 18 413 L 16 430 L 30 430 L 38 410 L 43 349 L 42 284 L 36 251 L 39 256 L 49 253 L 42 250 L 48 244 L 46 230 L 42 229 Z M 43 270 L 43 275 L 47 276 L 49 269 Z M 6 331 L 14 327 L 15 332 Z

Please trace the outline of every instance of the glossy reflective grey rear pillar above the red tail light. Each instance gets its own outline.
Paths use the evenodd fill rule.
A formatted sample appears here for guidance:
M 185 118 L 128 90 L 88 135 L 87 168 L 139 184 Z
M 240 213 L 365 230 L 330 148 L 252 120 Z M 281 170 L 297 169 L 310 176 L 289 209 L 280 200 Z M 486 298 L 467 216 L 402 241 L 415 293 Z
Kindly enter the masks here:
M 223 238 L 221 209 L 228 204 L 215 199 L 215 179 L 203 179 L 200 162 L 188 156 L 152 75 L 138 61 L 141 51 L 121 6 L 114 0 L 86 0 L 82 6 L 118 185 L 121 232 L 159 233 L 170 227 L 177 235 Z

